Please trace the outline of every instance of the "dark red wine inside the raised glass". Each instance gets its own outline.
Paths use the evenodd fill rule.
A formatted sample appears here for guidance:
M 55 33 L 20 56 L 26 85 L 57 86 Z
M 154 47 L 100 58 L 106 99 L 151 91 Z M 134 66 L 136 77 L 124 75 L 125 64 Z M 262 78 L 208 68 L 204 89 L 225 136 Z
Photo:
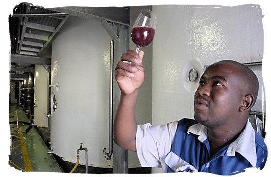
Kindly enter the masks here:
M 151 27 L 135 27 L 132 29 L 131 38 L 136 46 L 146 47 L 154 38 L 155 29 Z

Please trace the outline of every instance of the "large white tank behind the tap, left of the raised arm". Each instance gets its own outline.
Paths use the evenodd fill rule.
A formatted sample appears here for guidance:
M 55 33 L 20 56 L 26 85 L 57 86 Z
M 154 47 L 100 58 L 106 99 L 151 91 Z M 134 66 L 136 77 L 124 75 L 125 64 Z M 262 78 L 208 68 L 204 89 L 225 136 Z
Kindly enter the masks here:
M 89 166 L 112 167 L 102 151 L 109 142 L 109 70 L 110 36 L 101 22 L 70 16 L 52 43 L 51 65 L 51 148 L 65 161 L 75 163 L 83 143 Z M 137 157 L 129 161 L 138 166 Z

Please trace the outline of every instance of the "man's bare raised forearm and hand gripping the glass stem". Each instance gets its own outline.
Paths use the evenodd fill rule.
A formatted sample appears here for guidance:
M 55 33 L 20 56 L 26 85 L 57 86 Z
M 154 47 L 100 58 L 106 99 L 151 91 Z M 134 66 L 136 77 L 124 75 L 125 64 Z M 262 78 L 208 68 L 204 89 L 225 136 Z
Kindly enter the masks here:
M 135 105 L 138 89 L 144 81 L 143 55 L 143 51 L 139 54 L 132 50 L 127 51 L 122 55 L 115 70 L 115 78 L 121 89 L 121 98 L 114 118 L 114 142 L 119 147 L 132 151 L 136 151 Z

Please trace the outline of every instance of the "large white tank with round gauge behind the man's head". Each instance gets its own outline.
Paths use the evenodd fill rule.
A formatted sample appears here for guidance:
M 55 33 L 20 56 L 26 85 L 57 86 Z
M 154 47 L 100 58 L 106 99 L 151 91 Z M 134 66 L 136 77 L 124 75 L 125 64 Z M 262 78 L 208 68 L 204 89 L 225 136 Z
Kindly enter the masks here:
M 157 5 L 153 10 L 157 13 L 153 42 L 154 125 L 194 118 L 194 93 L 199 84 L 189 81 L 190 69 L 197 69 L 200 77 L 204 66 L 222 59 L 241 63 L 263 59 L 263 16 L 259 5 Z M 255 105 L 258 111 L 262 111 L 261 89 Z

